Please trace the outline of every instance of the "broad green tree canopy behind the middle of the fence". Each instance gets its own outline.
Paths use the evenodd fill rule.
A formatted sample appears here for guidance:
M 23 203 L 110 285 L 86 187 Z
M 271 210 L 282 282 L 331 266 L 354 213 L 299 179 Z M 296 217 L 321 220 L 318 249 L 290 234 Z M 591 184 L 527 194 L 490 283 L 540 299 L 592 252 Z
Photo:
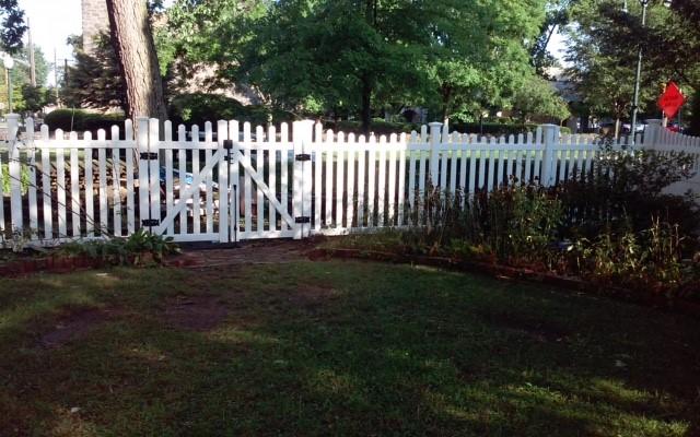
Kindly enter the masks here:
M 170 70 L 214 66 L 289 110 L 425 106 L 469 118 L 533 74 L 545 0 L 179 0 L 159 49 Z M 186 74 L 185 74 L 186 76 Z

